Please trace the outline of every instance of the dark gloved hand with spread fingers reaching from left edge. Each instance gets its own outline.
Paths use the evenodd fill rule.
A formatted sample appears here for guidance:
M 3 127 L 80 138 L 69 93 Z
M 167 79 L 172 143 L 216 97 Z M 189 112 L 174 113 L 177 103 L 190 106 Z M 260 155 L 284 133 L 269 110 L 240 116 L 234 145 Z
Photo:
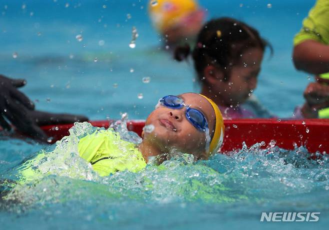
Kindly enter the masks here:
M 17 88 L 26 84 L 24 79 L 10 79 L 0 74 L 0 127 L 10 130 L 14 125 L 20 132 L 45 141 L 48 136 L 39 127 L 48 124 L 87 121 L 86 116 L 48 113 L 34 110 L 34 104 Z

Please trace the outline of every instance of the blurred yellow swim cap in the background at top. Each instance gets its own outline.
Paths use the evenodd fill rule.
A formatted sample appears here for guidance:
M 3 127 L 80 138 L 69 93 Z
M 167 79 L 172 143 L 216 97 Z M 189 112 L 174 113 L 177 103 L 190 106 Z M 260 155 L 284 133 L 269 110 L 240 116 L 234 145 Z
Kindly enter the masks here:
M 179 23 L 184 16 L 198 8 L 194 0 L 150 0 L 148 4 L 150 18 L 161 32 Z

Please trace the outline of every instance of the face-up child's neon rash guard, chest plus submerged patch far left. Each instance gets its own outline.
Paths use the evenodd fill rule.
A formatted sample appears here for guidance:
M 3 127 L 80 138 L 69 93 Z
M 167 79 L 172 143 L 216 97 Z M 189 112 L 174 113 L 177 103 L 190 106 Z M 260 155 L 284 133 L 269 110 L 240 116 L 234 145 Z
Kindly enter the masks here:
M 100 176 L 123 170 L 137 172 L 146 166 L 145 159 L 135 144 L 122 140 L 119 133 L 112 129 L 98 130 L 82 137 L 78 142 L 78 152 Z M 34 158 L 25 161 L 18 168 L 18 183 L 42 178 L 51 174 L 51 165 L 62 164 L 60 157 L 51 160 L 48 158 L 47 152 L 42 150 Z

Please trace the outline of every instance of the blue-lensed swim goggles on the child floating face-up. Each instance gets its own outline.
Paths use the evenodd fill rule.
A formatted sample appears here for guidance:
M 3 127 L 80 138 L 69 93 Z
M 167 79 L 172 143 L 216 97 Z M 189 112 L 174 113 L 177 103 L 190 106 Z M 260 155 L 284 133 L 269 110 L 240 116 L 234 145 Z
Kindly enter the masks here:
M 186 119 L 198 130 L 206 131 L 208 130 L 208 122 L 203 115 L 203 113 L 196 108 L 191 108 L 188 105 L 185 105 L 182 98 L 174 95 L 163 96 L 159 99 L 160 105 L 163 105 L 168 108 L 180 109 L 185 107 L 185 116 Z

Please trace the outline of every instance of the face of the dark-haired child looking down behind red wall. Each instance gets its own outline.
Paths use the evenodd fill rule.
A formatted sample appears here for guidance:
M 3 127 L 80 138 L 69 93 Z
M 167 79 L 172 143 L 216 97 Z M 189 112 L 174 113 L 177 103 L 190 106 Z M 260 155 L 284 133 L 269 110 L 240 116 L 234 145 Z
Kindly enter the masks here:
M 243 103 L 256 88 L 262 58 L 261 48 L 246 49 L 239 62 L 232 66 L 229 79 L 218 81 L 216 91 L 226 104 Z

